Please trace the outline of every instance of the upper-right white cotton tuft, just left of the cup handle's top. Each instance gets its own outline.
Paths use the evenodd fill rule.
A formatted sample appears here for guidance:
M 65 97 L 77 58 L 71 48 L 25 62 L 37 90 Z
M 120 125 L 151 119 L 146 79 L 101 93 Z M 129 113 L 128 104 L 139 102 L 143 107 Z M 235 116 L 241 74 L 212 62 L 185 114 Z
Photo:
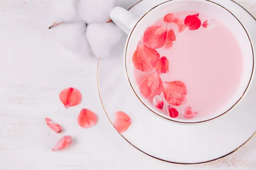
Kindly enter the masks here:
M 113 7 L 113 0 L 78 0 L 79 15 L 85 23 L 105 23 Z

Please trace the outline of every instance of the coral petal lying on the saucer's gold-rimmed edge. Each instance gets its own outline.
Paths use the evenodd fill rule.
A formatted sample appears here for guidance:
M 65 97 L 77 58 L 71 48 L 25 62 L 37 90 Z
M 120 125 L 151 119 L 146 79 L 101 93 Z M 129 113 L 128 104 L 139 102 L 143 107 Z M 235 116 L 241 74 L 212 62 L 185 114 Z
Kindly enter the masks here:
M 131 118 L 124 112 L 116 112 L 116 121 L 114 122 L 114 127 L 119 133 L 126 132 L 128 127 L 131 125 Z

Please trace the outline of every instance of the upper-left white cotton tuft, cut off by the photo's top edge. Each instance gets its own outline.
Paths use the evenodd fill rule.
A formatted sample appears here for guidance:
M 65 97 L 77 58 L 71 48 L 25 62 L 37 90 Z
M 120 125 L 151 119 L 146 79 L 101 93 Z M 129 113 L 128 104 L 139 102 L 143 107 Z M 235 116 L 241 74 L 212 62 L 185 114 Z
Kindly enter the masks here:
M 52 0 L 54 18 L 56 23 L 80 20 L 77 3 L 78 0 Z

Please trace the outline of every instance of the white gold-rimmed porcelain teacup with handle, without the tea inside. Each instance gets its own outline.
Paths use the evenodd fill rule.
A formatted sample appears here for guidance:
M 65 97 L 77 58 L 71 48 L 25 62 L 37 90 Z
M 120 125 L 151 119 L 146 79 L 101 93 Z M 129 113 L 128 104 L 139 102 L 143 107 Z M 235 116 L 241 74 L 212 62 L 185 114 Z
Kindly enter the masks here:
M 204 116 L 198 115 L 193 119 L 184 119 L 183 117 L 172 118 L 163 114 L 159 109 L 152 107 L 148 100 L 146 100 L 140 94 L 140 89 L 138 88 L 134 77 L 134 65 L 132 56 L 145 30 L 155 21 L 163 18 L 166 14 L 179 11 L 200 11 L 214 16 L 222 23 L 225 23 L 225 26 L 227 26 L 227 28 L 229 28 L 229 30 L 236 37 L 243 56 L 241 82 L 239 83 L 236 92 L 233 94 L 230 100 L 224 104 L 223 107 L 219 108 L 215 113 Z M 110 17 L 114 23 L 116 23 L 123 31 L 125 31 L 126 34 L 128 34 L 128 39 L 124 50 L 124 67 L 131 88 L 133 89 L 135 95 L 143 103 L 143 105 L 145 105 L 145 107 L 147 107 L 153 113 L 156 113 L 161 118 L 183 124 L 207 122 L 223 115 L 224 113 L 230 112 L 239 102 L 241 102 L 241 99 L 245 96 L 253 77 L 254 49 L 244 26 L 242 26 L 236 16 L 234 16 L 226 8 L 210 0 L 169 0 L 155 6 L 154 8 L 151 8 L 140 18 L 135 17 L 129 11 L 121 7 L 115 7 L 111 11 Z

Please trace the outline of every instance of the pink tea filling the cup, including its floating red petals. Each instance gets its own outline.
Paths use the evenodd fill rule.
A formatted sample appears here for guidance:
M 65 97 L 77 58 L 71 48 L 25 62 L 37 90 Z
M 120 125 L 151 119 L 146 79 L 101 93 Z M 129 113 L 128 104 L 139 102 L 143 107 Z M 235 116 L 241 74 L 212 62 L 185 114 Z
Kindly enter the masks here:
M 141 96 L 172 118 L 210 115 L 234 95 L 243 55 L 221 21 L 198 11 L 166 14 L 148 27 L 133 54 Z

